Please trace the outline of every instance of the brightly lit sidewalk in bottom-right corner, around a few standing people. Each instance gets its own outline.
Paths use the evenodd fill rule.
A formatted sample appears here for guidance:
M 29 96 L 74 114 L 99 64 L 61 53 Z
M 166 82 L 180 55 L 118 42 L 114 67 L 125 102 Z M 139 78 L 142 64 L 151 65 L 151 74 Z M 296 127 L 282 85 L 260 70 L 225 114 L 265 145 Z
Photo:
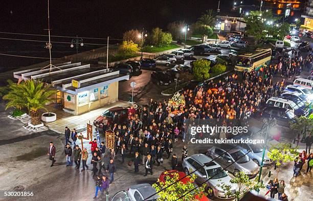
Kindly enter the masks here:
M 294 162 L 288 162 L 286 164 L 283 164 L 280 167 L 279 173 L 278 173 L 278 181 L 280 183 L 281 180 L 285 181 L 285 194 L 288 196 L 289 201 L 311 201 L 313 200 L 312 196 L 312 187 L 313 187 L 313 180 L 312 180 L 312 174 L 313 172 L 306 172 L 307 168 L 307 162 L 303 165 L 303 168 L 301 170 L 301 173 L 295 177 L 293 176 L 293 166 Z M 272 167 L 272 166 L 271 166 Z M 264 170 L 264 169 L 263 169 Z M 277 175 L 277 170 L 274 170 L 274 166 L 270 170 L 266 170 L 266 174 L 262 174 L 265 177 L 263 177 L 264 185 L 266 185 L 270 180 L 274 180 L 274 178 Z M 269 174 L 269 171 L 271 171 L 271 177 L 269 178 L 267 175 Z M 267 189 L 261 189 L 260 195 L 265 195 L 267 192 Z M 267 194 L 266 196 L 270 197 L 270 194 Z M 278 194 L 275 195 L 275 198 L 278 199 Z

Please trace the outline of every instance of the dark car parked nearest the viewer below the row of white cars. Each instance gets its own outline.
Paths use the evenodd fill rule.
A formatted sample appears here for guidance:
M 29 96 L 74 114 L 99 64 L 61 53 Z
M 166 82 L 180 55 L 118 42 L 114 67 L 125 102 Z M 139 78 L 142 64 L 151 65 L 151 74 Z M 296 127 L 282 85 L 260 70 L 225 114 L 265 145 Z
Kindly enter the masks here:
M 277 120 L 277 124 L 279 125 L 288 125 L 289 121 L 293 120 L 294 117 L 295 115 L 292 111 L 275 106 L 267 106 L 255 116 L 256 119 L 275 118 Z

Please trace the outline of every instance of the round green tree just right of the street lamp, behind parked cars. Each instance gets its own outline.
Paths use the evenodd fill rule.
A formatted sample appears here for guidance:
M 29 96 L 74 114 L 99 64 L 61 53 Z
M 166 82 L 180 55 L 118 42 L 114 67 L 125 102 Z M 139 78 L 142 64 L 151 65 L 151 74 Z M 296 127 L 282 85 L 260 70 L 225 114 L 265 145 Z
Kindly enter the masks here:
M 172 42 L 172 35 L 164 33 L 159 27 L 152 29 L 148 36 L 149 43 L 153 46 L 168 46 Z

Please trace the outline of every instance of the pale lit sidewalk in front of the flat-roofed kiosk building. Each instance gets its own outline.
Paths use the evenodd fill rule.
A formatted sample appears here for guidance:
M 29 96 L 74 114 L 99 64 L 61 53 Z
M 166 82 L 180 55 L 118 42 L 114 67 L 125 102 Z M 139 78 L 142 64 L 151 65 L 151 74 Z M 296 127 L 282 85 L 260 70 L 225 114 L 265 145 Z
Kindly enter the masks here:
M 82 115 L 72 115 L 72 114 L 66 113 L 63 110 L 54 108 L 54 104 L 51 104 L 51 105 L 47 105 L 47 109 L 57 114 L 57 120 L 54 122 L 48 122 L 44 124 L 48 126 L 51 130 L 58 132 L 58 133 L 63 133 L 65 126 L 68 126 L 71 130 L 73 128 L 76 128 L 76 129 L 86 128 L 87 123 L 90 122 L 93 125 L 94 120 L 98 116 L 100 116 L 105 110 L 111 107 L 118 107 L 118 106 L 128 107 L 130 106 L 130 103 L 119 100 L 115 103 L 108 104 L 105 107 L 92 110 Z

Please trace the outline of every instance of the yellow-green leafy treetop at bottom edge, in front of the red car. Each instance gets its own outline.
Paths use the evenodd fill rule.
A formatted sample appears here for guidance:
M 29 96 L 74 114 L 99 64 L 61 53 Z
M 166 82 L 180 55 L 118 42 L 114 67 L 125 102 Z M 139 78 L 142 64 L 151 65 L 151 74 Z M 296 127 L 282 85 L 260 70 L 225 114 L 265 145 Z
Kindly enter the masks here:
M 158 179 L 157 183 L 152 184 L 153 188 L 157 190 L 158 195 L 160 196 L 157 200 L 163 201 L 175 201 L 176 199 L 180 198 L 182 195 L 185 195 L 180 201 L 198 201 L 196 198 L 196 195 L 198 195 L 199 198 L 202 196 L 206 196 L 205 193 L 205 185 L 198 186 L 198 188 L 194 189 L 194 181 L 196 179 L 196 175 L 192 174 L 191 176 L 187 176 L 186 183 L 183 182 L 177 182 L 179 180 L 179 175 L 177 172 L 175 173 L 168 173 L 165 172 L 165 182 L 161 182 L 160 179 Z M 170 186 L 173 184 L 172 186 Z M 164 189 L 163 191 L 161 191 Z M 192 192 L 187 193 L 188 191 L 194 189 Z M 187 194 L 186 194 L 187 193 Z

